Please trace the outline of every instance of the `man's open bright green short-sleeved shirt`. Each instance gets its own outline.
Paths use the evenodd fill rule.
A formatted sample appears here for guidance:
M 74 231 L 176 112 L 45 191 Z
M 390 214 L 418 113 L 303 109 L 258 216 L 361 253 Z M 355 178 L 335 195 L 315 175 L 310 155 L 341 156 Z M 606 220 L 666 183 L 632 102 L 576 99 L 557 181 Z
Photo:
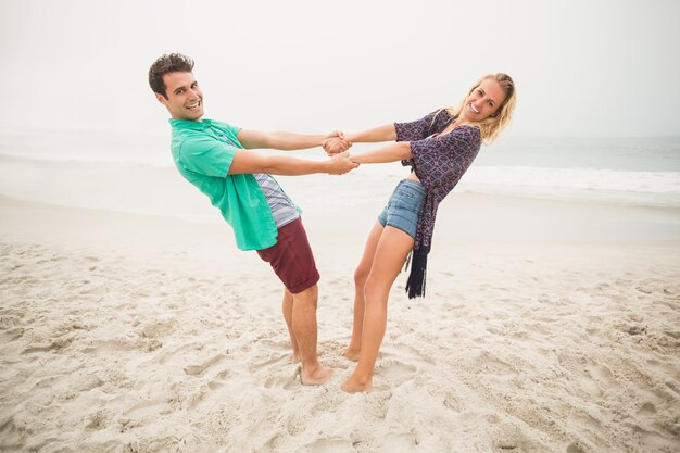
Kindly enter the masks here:
M 276 243 L 278 231 L 267 200 L 253 175 L 229 175 L 240 128 L 217 121 L 171 119 L 171 149 L 177 169 L 205 193 L 234 228 L 241 250 Z

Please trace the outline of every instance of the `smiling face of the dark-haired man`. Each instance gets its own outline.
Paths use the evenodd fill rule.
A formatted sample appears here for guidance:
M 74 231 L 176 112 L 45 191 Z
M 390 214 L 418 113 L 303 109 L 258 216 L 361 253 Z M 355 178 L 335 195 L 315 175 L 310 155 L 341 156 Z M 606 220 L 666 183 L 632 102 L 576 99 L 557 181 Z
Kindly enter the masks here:
M 201 121 L 203 117 L 203 92 L 192 73 L 169 73 L 163 76 L 165 92 L 155 93 L 175 119 Z

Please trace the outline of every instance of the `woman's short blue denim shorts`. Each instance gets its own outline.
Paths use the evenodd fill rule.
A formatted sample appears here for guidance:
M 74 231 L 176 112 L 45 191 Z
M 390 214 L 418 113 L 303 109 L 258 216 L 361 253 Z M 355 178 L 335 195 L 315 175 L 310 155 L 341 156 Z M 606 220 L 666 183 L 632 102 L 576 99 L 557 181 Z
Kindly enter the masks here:
M 401 229 L 412 238 L 416 238 L 418 215 L 423 209 L 425 189 L 418 181 L 404 179 L 396 185 L 387 206 L 378 216 L 380 225 Z

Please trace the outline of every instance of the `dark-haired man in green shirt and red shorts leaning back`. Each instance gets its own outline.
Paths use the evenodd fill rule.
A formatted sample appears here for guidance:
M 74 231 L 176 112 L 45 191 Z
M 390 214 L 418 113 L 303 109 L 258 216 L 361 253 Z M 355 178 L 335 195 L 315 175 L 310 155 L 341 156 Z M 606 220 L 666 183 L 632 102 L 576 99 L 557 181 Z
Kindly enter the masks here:
M 357 165 L 343 152 L 323 161 L 266 156 L 244 149 L 297 150 L 319 147 L 340 133 L 312 136 L 262 133 L 203 118 L 203 93 L 193 77 L 193 61 L 179 53 L 159 58 L 149 85 L 169 112 L 172 152 L 179 173 L 205 193 L 231 225 L 241 250 L 256 250 L 286 287 L 284 318 L 293 362 L 302 363 L 303 385 L 320 385 L 332 375 L 316 353 L 317 281 L 314 256 L 300 213 L 269 176 L 344 174 Z M 343 142 L 343 150 L 349 143 Z

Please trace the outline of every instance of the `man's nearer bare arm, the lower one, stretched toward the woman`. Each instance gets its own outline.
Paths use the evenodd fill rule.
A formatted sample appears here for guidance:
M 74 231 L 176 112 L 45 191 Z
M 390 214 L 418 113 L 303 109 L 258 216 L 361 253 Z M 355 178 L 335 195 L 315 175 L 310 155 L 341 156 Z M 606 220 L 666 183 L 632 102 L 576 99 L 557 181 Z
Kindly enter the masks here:
M 350 161 L 347 152 L 333 155 L 325 161 L 307 161 L 287 155 L 262 155 L 252 151 L 236 151 L 229 166 L 229 175 L 247 173 L 267 173 L 272 175 L 300 176 L 314 173 L 342 175 L 356 168 L 357 163 Z

